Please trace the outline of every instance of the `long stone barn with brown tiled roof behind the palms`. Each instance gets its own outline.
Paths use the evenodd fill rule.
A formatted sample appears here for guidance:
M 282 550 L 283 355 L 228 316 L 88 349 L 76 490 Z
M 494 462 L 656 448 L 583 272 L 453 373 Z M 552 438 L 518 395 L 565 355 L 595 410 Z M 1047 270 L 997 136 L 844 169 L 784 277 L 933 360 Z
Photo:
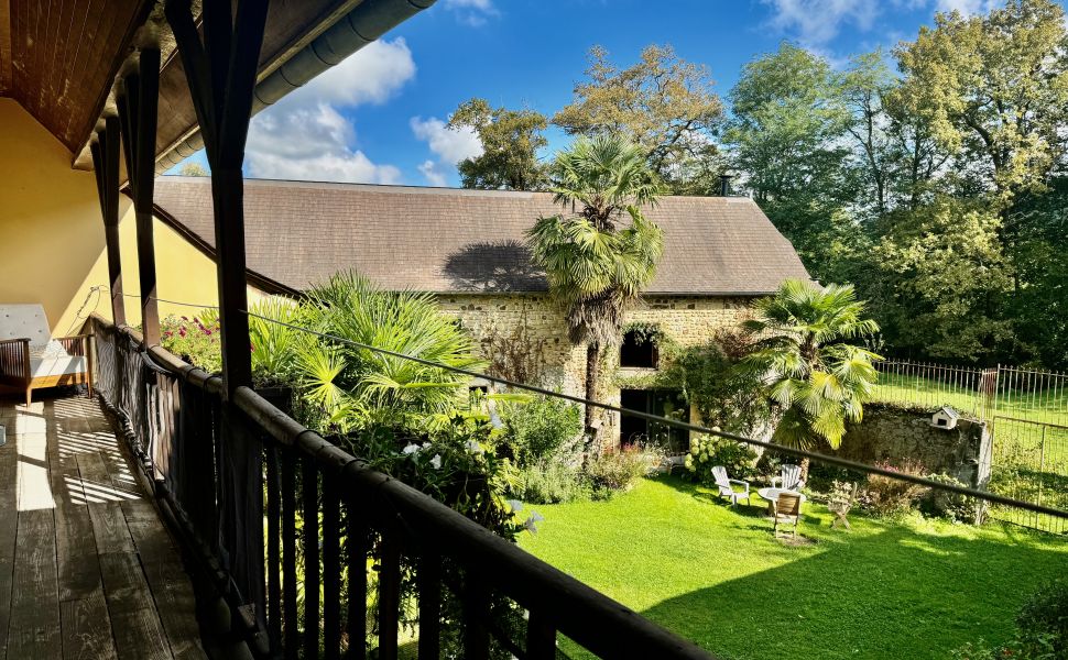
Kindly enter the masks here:
M 244 195 L 251 287 L 293 294 L 356 270 L 384 288 L 429 292 L 472 332 L 491 370 L 585 393 L 586 349 L 568 340 L 563 310 L 525 246 L 534 221 L 562 210 L 551 194 L 249 180 Z M 162 223 L 214 257 L 208 178 L 161 177 L 155 206 Z M 664 255 L 626 315 L 644 332 L 629 332 L 609 358 L 599 398 L 690 419 L 677 392 L 620 388 L 658 366 L 642 337 L 655 329 L 680 345 L 707 342 L 784 279 L 809 276 L 751 199 L 664 197 L 645 212 L 664 230 Z M 650 433 L 632 418 L 604 415 L 601 424 L 606 441 Z

